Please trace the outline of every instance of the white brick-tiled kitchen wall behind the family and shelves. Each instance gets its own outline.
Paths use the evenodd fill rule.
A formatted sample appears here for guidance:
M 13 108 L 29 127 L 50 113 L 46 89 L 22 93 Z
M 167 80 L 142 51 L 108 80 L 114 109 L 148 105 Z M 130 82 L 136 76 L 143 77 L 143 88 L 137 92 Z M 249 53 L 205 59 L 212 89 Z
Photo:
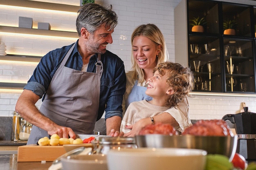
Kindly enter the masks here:
M 224 0 L 223 0 L 224 1 Z M 256 6 L 251 0 L 225 0 L 227 2 L 239 2 Z M 70 4 L 70 0 L 51 0 Z M 74 5 L 79 5 L 79 0 L 72 0 Z M 175 62 L 174 51 L 174 8 L 180 0 L 95 0 L 96 3 L 107 6 L 112 4 L 114 11 L 119 16 L 119 24 L 113 33 L 113 44 L 107 49 L 116 53 L 124 61 L 126 71 L 130 70 L 131 45 L 130 35 L 136 26 L 144 23 L 156 24 L 164 34 L 169 60 Z M 42 11 L 27 11 L 20 9 L 6 9 L 0 5 L 0 25 L 18 26 L 18 17 L 33 18 L 33 28 L 37 28 L 38 22 L 49 22 L 52 30 L 76 31 L 76 13 L 58 14 Z M 27 35 L 5 35 L 0 33 L 0 41 L 7 45 L 8 54 L 38 55 L 43 56 L 48 51 L 69 45 L 73 40 L 40 37 L 31 38 Z M 6 63 L 0 61 L 0 82 L 16 81 L 26 82 L 33 73 L 36 65 L 24 65 L 22 62 Z M 15 104 L 22 91 L 6 91 L 0 89 L 0 117 L 11 117 Z M 256 95 L 226 95 L 223 93 L 193 93 L 189 97 L 191 119 L 221 119 L 228 113 L 240 113 L 242 102 L 245 102 L 249 110 L 256 112 Z M 36 103 L 38 108 L 41 101 Z

